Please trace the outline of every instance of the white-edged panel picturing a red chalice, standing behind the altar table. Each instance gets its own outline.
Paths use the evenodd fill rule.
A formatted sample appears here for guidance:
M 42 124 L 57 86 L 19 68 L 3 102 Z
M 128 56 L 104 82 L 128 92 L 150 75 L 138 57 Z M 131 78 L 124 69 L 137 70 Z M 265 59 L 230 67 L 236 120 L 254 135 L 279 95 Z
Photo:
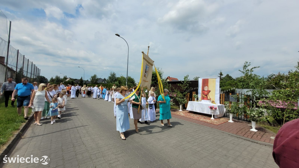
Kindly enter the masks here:
M 198 93 L 199 100 L 210 100 L 213 104 L 220 104 L 219 92 L 220 78 L 199 78 L 198 79 Z

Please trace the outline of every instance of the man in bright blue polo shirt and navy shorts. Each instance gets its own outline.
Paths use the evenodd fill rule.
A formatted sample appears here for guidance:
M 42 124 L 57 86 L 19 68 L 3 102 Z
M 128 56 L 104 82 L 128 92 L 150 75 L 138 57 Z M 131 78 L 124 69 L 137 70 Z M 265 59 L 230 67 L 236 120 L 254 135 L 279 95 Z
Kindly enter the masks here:
M 22 83 L 16 85 L 15 90 L 13 91 L 12 101 L 15 101 L 15 96 L 18 93 L 17 98 L 17 107 L 18 114 L 22 114 L 22 106 L 24 106 L 24 119 L 28 119 L 28 105 L 30 102 L 30 95 L 34 92 L 33 84 L 28 83 L 27 78 L 22 78 Z

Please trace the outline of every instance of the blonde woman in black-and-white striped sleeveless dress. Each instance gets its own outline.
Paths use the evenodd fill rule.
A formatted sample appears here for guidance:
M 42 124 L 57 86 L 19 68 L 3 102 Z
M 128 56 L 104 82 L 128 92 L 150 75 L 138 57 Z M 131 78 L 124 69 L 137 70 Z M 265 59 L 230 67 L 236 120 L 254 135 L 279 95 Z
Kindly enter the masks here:
M 35 90 L 32 93 L 30 103 L 28 107 L 32 108 L 32 112 L 34 112 L 34 119 L 36 125 L 42 125 L 39 123 L 39 120 L 42 116 L 42 110 L 45 107 L 45 98 L 48 102 L 51 103 L 50 99 L 48 98 L 48 94 L 45 91 L 46 84 L 39 84 L 38 90 Z

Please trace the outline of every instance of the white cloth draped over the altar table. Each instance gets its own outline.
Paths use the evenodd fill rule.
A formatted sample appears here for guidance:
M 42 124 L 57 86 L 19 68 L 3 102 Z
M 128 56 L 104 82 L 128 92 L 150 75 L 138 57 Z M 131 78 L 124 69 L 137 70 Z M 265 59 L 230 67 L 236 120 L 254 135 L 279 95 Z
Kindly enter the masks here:
M 216 110 L 211 110 L 209 106 L 217 107 Z M 224 115 L 225 108 L 223 104 L 212 104 L 208 102 L 189 101 L 187 109 L 189 111 L 201 112 L 205 114 L 213 114 L 215 118 L 220 118 Z

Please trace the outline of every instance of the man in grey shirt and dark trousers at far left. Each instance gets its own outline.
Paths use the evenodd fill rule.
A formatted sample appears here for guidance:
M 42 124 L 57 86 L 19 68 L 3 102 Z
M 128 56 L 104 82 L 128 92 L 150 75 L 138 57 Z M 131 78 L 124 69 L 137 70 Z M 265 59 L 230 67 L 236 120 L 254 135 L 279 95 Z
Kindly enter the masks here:
M 4 92 L 5 97 L 5 107 L 8 107 L 9 97 L 13 95 L 13 90 L 15 90 L 17 83 L 13 81 L 13 78 L 7 78 L 7 82 L 4 82 L 1 87 L 1 96 Z M 15 101 L 11 101 L 11 106 L 15 107 Z

